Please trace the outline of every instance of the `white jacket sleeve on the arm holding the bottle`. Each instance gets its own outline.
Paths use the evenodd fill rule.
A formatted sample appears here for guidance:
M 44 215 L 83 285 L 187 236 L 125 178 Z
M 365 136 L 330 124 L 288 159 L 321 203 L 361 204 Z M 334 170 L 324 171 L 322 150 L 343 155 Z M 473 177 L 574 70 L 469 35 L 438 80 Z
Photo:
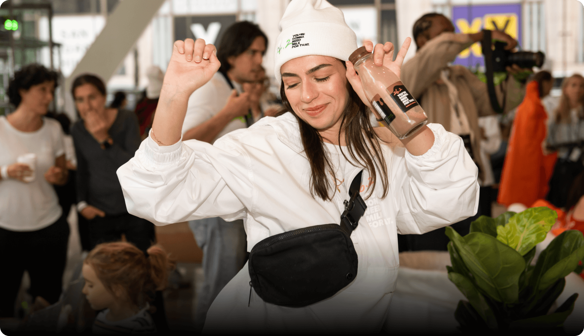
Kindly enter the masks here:
M 425 154 L 405 153 L 395 175 L 399 234 L 422 234 L 474 216 L 478 169 L 463 141 L 440 124 L 428 124 L 434 144 Z

